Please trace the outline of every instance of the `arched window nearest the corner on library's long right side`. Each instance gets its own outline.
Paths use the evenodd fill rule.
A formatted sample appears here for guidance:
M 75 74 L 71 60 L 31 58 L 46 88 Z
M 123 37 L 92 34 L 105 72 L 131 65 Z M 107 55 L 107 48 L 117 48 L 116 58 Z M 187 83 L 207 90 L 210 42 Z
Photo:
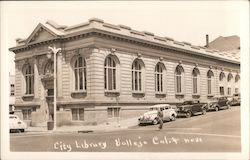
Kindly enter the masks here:
M 104 63 L 104 88 L 105 90 L 117 90 L 117 64 L 113 56 L 108 56 Z

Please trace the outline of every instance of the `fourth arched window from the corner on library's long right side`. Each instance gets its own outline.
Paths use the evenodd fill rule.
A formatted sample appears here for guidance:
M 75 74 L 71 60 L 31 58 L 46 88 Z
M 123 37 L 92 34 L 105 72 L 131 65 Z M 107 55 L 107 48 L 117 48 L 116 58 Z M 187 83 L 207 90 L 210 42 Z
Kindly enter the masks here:
M 176 93 L 183 93 L 184 91 L 184 69 L 178 65 L 175 69 L 175 86 Z

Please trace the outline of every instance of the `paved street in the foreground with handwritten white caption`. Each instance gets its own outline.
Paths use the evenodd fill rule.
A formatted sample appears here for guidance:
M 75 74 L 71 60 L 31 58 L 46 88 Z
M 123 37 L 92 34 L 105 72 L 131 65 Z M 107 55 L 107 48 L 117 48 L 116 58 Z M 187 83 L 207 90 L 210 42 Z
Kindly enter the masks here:
M 133 122 L 133 123 L 132 123 Z M 240 107 L 174 122 L 138 126 L 137 119 L 93 132 L 11 134 L 11 151 L 53 152 L 240 152 Z M 125 125 L 127 124 L 127 126 Z M 134 124 L 134 126 L 131 126 Z M 112 125 L 111 125 L 112 126 Z M 105 128 L 105 127 L 104 127 Z M 115 129 L 114 129 L 115 128 Z M 90 129 L 90 128 L 87 128 Z

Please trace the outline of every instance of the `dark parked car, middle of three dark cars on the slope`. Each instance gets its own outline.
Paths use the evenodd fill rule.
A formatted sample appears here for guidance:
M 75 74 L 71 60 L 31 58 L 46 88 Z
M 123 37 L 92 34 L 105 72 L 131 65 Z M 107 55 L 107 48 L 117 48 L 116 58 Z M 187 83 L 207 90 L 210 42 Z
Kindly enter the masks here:
M 215 110 L 215 111 L 219 111 L 221 109 L 229 109 L 230 103 L 228 99 L 229 98 L 226 96 L 213 97 L 208 102 L 208 109 Z

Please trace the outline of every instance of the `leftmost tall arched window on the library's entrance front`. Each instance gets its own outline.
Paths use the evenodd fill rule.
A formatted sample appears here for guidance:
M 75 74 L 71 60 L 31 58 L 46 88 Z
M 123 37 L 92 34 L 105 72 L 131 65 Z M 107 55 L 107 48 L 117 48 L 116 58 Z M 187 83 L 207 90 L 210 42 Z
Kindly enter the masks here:
M 25 94 L 34 93 L 34 68 L 28 64 L 24 68 Z

